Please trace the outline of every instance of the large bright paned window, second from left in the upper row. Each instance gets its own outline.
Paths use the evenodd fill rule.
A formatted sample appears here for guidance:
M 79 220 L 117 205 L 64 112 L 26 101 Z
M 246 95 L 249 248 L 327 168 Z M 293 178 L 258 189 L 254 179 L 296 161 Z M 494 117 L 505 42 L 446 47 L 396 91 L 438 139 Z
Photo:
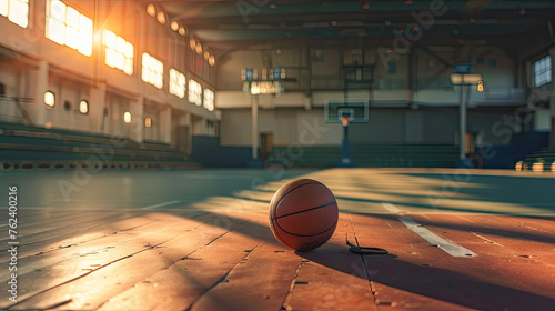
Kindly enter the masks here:
M 83 56 L 92 53 L 92 20 L 59 0 L 47 2 L 46 36 Z

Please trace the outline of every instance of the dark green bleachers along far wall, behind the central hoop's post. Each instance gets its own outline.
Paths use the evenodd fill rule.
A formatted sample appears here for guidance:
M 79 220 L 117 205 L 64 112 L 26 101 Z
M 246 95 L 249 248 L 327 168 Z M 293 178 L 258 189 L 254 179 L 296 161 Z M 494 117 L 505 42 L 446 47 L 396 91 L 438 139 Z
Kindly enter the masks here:
M 458 148 L 453 144 L 352 144 L 351 156 L 357 167 L 365 168 L 454 168 Z M 268 164 L 333 168 L 341 157 L 341 146 L 281 146 L 273 147 Z

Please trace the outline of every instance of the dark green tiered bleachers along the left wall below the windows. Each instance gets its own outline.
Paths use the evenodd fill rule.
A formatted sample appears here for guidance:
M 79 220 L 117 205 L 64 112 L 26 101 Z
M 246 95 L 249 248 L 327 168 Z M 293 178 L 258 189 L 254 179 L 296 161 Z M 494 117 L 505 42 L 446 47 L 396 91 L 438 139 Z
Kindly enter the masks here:
M 0 169 L 198 168 L 160 142 L 0 122 Z

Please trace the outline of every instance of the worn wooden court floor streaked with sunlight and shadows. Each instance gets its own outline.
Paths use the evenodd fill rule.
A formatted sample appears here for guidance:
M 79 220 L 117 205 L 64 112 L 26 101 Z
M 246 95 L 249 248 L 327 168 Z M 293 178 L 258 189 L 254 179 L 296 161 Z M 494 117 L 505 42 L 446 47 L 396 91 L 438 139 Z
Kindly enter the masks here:
M 299 177 L 327 184 L 341 210 L 311 252 L 268 224 L 273 192 Z M 2 234 L 0 309 L 555 310 L 555 174 L 118 171 L 63 194 L 73 178 L 0 178 L 21 198 L 17 302 Z M 345 235 L 390 253 L 351 253 Z

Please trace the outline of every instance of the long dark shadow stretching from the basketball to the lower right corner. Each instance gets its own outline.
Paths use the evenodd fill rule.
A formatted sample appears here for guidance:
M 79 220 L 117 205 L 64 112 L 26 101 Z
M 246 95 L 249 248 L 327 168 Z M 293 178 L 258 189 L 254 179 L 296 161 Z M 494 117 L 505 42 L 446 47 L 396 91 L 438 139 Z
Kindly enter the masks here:
M 310 252 L 295 253 L 305 260 L 345 273 L 345 278 L 353 275 L 369 280 L 377 291 L 383 287 L 391 288 L 389 293 L 394 293 L 394 298 L 375 295 L 384 307 L 391 305 L 392 302 L 403 307 L 404 302 L 407 305 L 422 303 L 434 310 L 456 304 L 493 311 L 552 310 L 555 305 L 555 299 L 533 292 L 484 282 L 427 264 L 403 261 L 395 249 L 390 249 L 386 255 L 361 255 L 350 253 L 346 245 L 326 243 Z

